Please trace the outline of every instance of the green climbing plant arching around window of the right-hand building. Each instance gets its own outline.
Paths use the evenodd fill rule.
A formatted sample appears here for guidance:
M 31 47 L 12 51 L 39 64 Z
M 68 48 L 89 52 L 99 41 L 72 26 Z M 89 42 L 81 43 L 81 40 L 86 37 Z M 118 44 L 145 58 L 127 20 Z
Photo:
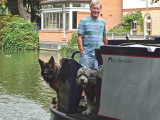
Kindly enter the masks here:
M 122 17 L 122 21 L 124 23 L 124 29 L 126 29 L 128 32 L 132 28 L 133 21 L 137 20 L 139 25 L 139 31 L 143 31 L 143 17 L 141 11 L 136 11 L 132 14 L 127 14 Z

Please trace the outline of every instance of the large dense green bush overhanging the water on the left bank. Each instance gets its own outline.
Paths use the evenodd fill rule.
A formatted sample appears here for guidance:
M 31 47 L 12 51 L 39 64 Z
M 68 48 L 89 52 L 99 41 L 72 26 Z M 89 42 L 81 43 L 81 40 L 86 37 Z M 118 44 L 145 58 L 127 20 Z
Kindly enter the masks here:
M 8 17 L 6 19 L 10 21 Z M 12 50 L 38 49 L 39 38 L 35 29 L 35 23 L 29 23 L 16 16 L 13 17 L 11 22 L 4 23 L 4 27 L 0 31 L 2 48 Z

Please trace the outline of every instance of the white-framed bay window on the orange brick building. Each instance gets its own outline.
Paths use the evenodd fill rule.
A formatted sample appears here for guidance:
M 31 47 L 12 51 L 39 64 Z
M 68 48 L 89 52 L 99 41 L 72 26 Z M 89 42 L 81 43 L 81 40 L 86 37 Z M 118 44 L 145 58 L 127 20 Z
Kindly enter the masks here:
M 63 5 L 64 8 L 62 9 Z M 85 10 L 88 12 L 89 3 L 74 2 L 74 3 L 43 5 L 43 10 L 42 10 L 43 15 L 41 17 L 41 19 L 43 19 L 42 29 L 44 30 L 77 29 L 77 24 L 78 24 L 77 9 L 79 9 L 79 11 Z

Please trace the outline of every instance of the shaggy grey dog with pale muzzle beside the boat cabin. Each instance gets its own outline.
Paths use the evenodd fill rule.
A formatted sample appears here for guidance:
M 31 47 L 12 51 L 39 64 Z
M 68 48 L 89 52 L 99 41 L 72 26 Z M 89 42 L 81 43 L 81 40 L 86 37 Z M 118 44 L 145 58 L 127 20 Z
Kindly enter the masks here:
M 77 72 L 76 82 L 83 87 L 87 99 L 87 109 L 82 112 L 83 115 L 90 115 L 95 107 L 97 77 L 97 71 L 87 67 L 81 67 Z

